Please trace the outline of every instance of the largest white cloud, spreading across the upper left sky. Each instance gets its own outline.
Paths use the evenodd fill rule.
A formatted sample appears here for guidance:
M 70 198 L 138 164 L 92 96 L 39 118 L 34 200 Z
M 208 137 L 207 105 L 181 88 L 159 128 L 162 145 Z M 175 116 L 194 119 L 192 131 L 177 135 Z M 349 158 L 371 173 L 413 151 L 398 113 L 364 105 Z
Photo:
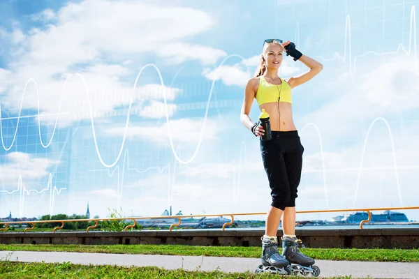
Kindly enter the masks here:
M 17 52 L 10 56 L 11 62 L 7 69 L 10 77 L 13 77 L 7 80 L 13 92 L 5 96 L 10 99 L 8 109 L 13 113 L 20 109 L 24 84 L 29 78 L 34 78 L 38 84 L 41 112 L 54 114 L 58 111 L 68 73 L 80 71 L 92 94 L 92 110 L 95 114 L 101 114 L 128 105 L 126 100 L 131 96 L 131 87 L 138 71 L 138 66 L 133 63 L 138 61 L 135 55 L 147 53 L 149 56 L 151 53 L 172 63 L 192 59 L 205 64 L 214 63 L 226 55 L 212 47 L 184 42 L 185 38 L 207 31 L 215 24 L 210 15 L 193 8 L 157 6 L 135 1 L 85 0 L 68 3 L 56 13 L 44 10 L 35 15 L 33 20 L 49 23 L 27 33 L 18 29 L 19 24 L 16 24 L 14 33 L 2 31 L 7 38 L 17 43 Z M 149 74 L 147 70 L 145 74 Z M 0 84 L 5 79 L 0 72 Z M 140 83 L 141 79 L 138 87 Z M 154 84 L 147 86 L 155 89 L 156 94 L 149 95 L 151 99 L 158 100 L 163 96 L 163 91 L 166 91 L 168 100 L 175 98 L 175 90 Z M 127 93 L 122 96 L 105 93 L 111 91 Z M 101 93 L 93 96 L 94 92 Z M 97 100 L 109 97 L 124 101 L 106 103 Z M 88 118 L 86 99 L 82 80 L 72 77 L 61 104 L 60 112 L 64 114 L 59 116 L 59 126 L 80 119 L 80 115 Z M 145 111 L 149 110 L 140 98 L 136 101 L 135 105 L 146 105 Z M 36 88 L 34 83 L 30 83 L 22 109 L 37 110 L 37 104 Z M 170 112 L 175 112 L 175 105 L 170 105 Z M 54 119 L 55 116 L 41 116 L 45 124 L 54 123 Z

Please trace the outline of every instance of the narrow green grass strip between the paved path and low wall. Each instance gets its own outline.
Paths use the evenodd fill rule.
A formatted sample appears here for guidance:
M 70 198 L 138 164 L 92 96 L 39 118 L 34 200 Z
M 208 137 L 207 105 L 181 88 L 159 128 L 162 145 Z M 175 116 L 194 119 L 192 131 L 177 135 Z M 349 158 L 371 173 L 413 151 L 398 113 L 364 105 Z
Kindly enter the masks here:
M 100 252 L 115 254 L 192 255 L 215 257 L 260 257 L 260 247 L 241 246 L 182 246 L 182 245 L 52 245 L 52 244 L 0 244 L 7 251 Z M 281 249 L 279 249 L 281 252 Z M 419 262 L 418 249 L 325 249 L 304 248 L 304 254 L 314 259 Z

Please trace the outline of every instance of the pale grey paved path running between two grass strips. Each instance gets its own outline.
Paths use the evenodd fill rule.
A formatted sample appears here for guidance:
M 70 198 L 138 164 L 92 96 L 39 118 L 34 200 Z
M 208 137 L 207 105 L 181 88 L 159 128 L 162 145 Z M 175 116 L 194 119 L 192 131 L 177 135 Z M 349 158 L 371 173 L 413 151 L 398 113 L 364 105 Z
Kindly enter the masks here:
M 73 264 L 116 264 L 119 266 L 159 266 L 165 269 L 223 272 L 254 271 L 260 259 L 242 257 L 199 257 L 166 255 L 98 254 L 82 252 L 0 251 L 0 259 L 19 262 L 71 262 Z M 352 276 L 352 278 L 416 278 L 419 263 L 316 261 L 321 277 Z

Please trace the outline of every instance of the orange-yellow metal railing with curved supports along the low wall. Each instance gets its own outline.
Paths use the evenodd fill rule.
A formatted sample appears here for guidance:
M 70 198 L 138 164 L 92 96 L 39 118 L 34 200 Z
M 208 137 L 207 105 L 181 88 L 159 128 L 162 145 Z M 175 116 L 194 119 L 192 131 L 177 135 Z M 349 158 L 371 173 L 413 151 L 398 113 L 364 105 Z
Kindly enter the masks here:
M 407 206 L 407 207 L 381 207 L 381 208 L 371 208 L 371 209 L 326 209 L 326 210 L 308 210 L 308 211 L 296 211 L 296 213 L 332 213 L 332 212 L 348 212 L 348 211 L 365 211 L 368 213 L 368 219 L 362 220 L 360 222 L 360 229 L 365 223 L 369 223 L 371 220 L 371 211 L 383 211 L 383 210 L 411 210 L 411 209 L 419 209 L 419 206 Z M 98 227 L 99 221 L 106 221 L 106 220 L 133 220 L 132 225 L 127 225 L 124 227 L 124 232 L 126 232 L 129 228 L 134 228 L 137 224 L 136 220 L 144 220 L 144 219 L 177 219 L 177 224 L 170 225 L 170 232 L 172 231 L 173 227 L 179 227 L 182 223 L 182 218 L 193 218 L 193 217 L 222 217 L 222 216 L 230 216 L 231 222 L 224 223 L 222 229 L 226 229 L 226 226 L 233 225 L 234 223 L 234 216 L 253 216 L 253 215 L 265 215 L 266 212 L 251 212 L 251 213 L 226 213 L 226 214 L 198 214 L 198 215 L 186 215 L 186 216 L 149 216 L 149 217 L 124 217 L 124 218 L 94 218 L 94 219 L 71 219 L 71 220 L 43 220 L 43 221 L 18 221 L 18 222 L 0 222 L 1 225 L 6 225 L 6 227 L 0 229 L 0 231 L 6 231 L 9 225 L 15 224 L 31 224 L 32 227 L 27 227 L 24 229 L 24 232 L 27 232 L 31 229 L 35 228 L 36 224 L 42 223 L 61 223 L 61 227 L 54 227 L 52 232 L 55 233 L 57 229 L 63 229 L 64 223 L 73 223 L 73 222 L 90 222 L 94 221 L 96 225 L 91 225 L 87 227 L 86 232 L 89 232 L 90 229 L 94 229 Z

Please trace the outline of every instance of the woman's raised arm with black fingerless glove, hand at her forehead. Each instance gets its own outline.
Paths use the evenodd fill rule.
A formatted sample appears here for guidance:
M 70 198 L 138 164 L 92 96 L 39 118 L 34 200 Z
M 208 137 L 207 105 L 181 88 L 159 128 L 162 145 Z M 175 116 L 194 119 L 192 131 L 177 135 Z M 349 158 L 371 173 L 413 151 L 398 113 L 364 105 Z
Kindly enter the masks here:
M 299 60 L 304 63 L 305 66 L 309 67 L 309 70 L 306 73 L 302 73 L 301 75 L 296 75 L 288 79 L 287 82 L 290 84 L 291 88 L 303 84 L 304 82 L 308 82 L 320 73 L 321 70 L 323 70 L 323 65 L 321 63 L 307 55 L 302 54 L 298 50 L 295 50 L 295 45 L 290 41 L 286 41 L 283 45 L 287 54 L 289 52 L 289 55 L 291 55 L 295 61 Z

